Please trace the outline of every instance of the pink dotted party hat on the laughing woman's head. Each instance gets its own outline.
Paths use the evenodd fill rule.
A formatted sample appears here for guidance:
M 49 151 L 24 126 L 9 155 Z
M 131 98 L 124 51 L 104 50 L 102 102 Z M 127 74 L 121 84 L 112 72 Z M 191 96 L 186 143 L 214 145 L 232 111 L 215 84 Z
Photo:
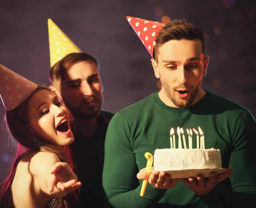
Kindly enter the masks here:
M 18 107 L 37 87 L 37 84 L 0 64 L 0 97 L 6 110 Z

